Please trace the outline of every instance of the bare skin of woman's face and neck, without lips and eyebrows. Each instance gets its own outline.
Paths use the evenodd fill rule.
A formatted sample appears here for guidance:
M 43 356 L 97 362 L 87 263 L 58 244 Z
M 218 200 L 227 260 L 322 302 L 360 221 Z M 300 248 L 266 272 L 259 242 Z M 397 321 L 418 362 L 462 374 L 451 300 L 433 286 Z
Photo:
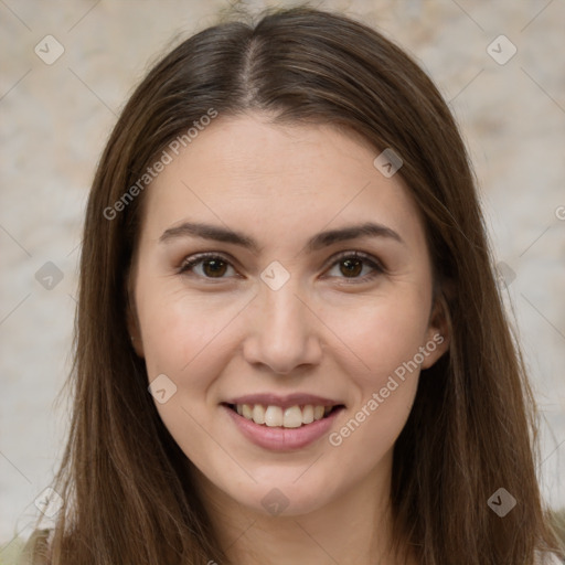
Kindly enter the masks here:
M 257 447 L 220 405 L 243 394 L 316 394 L 345 405 L 331 429 L 339 431 L 434 335 L 422 369 L 446 351 L 422 220 L 399 174 L 375 169 L 377 154 L 330 126 L 220 116 L 145 194 L 129 326 L 149 381 L 166 374 L 177 386 L 157 408 L 195 466 L 236 563 L 375 563 L 369 555 L 386 544 L 392 449 L 419 370 L 396 379 L 397 388 L 339 446 L 324 436 L 287 452 Z M 188 221 L 243 232 L 258 249 L 160 241 Z M 364 222 L 394 230 L 402 243 L 359 237 L 306 249 L 318 232 Z M 385 271 L 364 263 L 348 278 L 335 255 L 355 250 Z M 206 264 L 180 273 L 202 252 L 230 262 L 223 278 L 211 278 Z M 290 274 L 278 290 L 260 278 L 274 260 Z M 275 488 L 288 502 L 277 516 L 262 504 Z

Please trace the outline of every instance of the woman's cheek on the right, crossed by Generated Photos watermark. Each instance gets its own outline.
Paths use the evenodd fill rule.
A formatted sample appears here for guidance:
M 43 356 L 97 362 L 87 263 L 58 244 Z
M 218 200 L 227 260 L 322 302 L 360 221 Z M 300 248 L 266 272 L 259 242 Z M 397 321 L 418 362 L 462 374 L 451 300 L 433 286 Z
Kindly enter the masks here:
M 373 298 L 349 316 L 327 311 L 328 326 L 348 345 L 341 369 L 355 391 L 349 419 L 329 439 L 335 447 L 348 443 L 351 457 L 367 445 L 383 455 L 404 427 L 416 395 L 428 307 L 413 291 Z

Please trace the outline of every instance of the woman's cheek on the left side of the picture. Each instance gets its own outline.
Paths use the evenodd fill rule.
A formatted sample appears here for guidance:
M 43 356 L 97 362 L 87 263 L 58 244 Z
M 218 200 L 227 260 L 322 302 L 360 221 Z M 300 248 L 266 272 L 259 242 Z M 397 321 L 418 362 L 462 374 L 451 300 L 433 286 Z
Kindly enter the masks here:
M 140 287 L 138 313 L 148 377 L 164 374 L 174 390 L 162 404 L 156 397 L 157 409 L 184 454 L 205 461 L 210 455 L 205 430 L 213 428 L 215 409 L 211 391 L 234 354 L 230 326 L 242 306 L 177 290 L 143 295 L 147 290 Z M 152 298 L 143 301 L 146 296 Z

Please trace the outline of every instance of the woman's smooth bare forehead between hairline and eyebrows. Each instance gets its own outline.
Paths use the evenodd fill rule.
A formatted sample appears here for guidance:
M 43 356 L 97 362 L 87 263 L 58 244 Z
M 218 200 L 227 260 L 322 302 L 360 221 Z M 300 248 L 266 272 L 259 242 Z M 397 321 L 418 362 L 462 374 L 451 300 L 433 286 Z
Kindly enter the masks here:
M 402 178 L 374 167 L 379 153 L 328 125 L 220 116 L 171 153 L 148 188 L 142 233 L 156 239 L 175 223 L 198 220 L 282 244 L 323 227 L 376 221 L 422 238 Z

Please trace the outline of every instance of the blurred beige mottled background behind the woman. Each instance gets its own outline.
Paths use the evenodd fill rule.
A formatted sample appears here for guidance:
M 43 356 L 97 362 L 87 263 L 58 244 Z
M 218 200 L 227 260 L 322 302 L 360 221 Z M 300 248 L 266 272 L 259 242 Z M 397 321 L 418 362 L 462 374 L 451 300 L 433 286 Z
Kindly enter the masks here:
M 253 11 L 294 4 L 241 3 Z M 316 2 L 404 46 L 459 119 L 544 418 L 544 495 L 562 508 L 565 2 L 493 4 Z M 62 452 L 67 411 L 55 398 L 70 370 L 77 246 L 109 130 L 150 63 L 227 7 L 0 0 L 0 544 L 25 535 Z

